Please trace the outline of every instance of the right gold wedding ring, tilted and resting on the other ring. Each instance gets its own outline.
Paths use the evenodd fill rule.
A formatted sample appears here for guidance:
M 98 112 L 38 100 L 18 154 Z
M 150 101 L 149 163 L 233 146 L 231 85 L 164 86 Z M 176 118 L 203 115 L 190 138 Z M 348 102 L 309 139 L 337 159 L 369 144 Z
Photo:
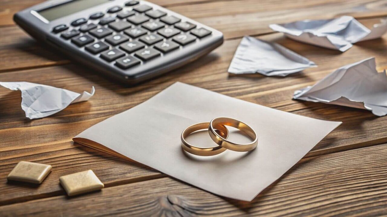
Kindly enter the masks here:
M 224 138 L 215 131 L 215 129 L 218 129 L 220 125 L 235 127 L 236 129 L 245 132 L 253 139 L 253 141 L 247 144 L 238 144 L 235 142 L 228 141 L 227 137 Z M 257 147 L 258 145 L 257 133 L 250 126 L 239 120 L 235 120 L 229 117 L 217 117 L 212 119 L 209 124 L 208 132 L 210 134 L 211 139 L 216 142 L 216 144 L 233 151 L 251 151 L 255 149 L 255 147 Z

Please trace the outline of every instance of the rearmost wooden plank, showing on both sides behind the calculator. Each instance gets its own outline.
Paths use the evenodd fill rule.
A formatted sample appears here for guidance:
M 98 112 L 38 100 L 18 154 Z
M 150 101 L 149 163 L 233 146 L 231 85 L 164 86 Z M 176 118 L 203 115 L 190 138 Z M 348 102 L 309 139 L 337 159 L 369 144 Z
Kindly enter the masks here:
M 43 2 L 43 0 L 0 0 L 0 26 L 14 25 L 12 16 L 19 10 Z M 356 17 L 385 16 L 384 0 L 150 0 L 170 10 L 213 25 L 220 31 L 234 29 L 243 34 L 268 31 L 272 22 L 289 22 L 299 19 L 331 18 L 339 15 Z M 190 7 L 187 7 L 190 5 Z M 219 10 L 221 8 L 221 10 Z M 239 25 L 235 25 L 238 23 Z

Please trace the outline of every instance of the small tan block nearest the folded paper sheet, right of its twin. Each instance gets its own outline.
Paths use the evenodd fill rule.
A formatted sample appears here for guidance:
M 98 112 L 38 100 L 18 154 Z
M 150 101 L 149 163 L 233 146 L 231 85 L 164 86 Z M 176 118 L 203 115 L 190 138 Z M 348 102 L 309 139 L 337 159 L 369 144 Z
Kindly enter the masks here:
M 92 170 L 61 176 L 59 181 L 68 196 L 92 192 L 104 187 Z

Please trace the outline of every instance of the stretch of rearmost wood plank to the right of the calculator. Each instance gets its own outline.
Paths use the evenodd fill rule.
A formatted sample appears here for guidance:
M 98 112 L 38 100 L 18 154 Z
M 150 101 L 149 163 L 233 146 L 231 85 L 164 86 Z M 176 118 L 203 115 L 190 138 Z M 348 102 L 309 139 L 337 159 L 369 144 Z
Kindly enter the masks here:
M 356 18 L 386 16 L 384 0 L 284 0 L 216 1 L 168 9 L 204 23 L 224 33 L 225 38 L 271 33 L 269 24 L 303 19 L 331 19 L 342 15 Z M 221 8 L 221 10 L 219 10 Z

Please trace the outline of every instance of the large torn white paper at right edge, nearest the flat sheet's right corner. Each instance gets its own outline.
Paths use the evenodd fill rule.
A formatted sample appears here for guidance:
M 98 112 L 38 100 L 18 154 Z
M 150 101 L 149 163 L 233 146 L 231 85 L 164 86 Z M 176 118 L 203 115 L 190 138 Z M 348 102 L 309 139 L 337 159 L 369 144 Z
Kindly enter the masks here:
M 342 66 L 313 86 L 294 93 L 293 99 L 363 108 L 387 114 L 386 71 L 376 71 L 375 58 Z

